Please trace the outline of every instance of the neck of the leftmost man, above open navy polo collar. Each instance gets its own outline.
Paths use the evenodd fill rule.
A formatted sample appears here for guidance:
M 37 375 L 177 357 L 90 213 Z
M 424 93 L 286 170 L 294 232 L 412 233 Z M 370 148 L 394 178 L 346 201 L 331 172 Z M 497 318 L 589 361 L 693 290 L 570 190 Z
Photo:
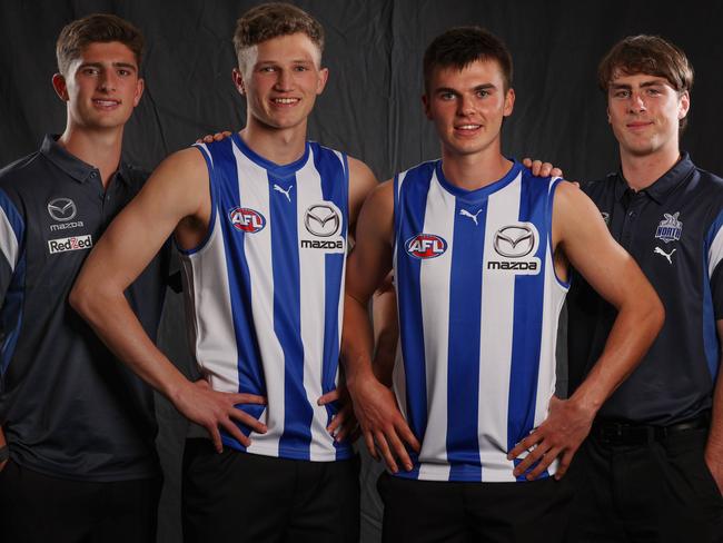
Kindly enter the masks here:
M 73 126 L 70 121 L 58 144 L 83 162 L 95 166 L 100 171 L 103 187 L 120 164 L 120 150 L 123 141 L 123 127 L 108 130 L 88 130 Z

